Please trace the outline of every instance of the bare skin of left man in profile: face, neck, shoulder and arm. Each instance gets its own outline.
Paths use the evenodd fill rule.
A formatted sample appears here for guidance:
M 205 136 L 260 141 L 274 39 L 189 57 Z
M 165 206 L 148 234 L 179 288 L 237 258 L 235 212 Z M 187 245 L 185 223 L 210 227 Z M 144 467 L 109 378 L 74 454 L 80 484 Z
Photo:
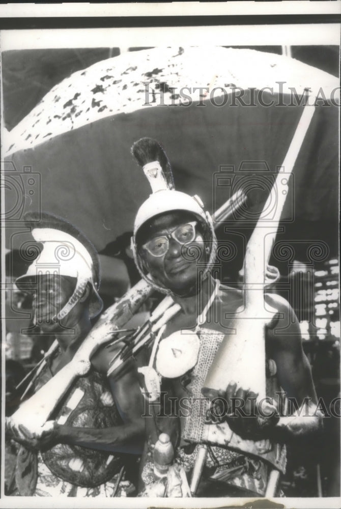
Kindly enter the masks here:
M 91 287 L 89 285 L 86 288 L 80 300 L 65 318 L 54 321 L 53 317 L 73 294 L 75 279 L 66 276 L 41 277 L 44 280 L 38 285 L 37 294 L 33 295 L 33 312 L 42 319 L 42 322 L 39 323 L 42 332 L 55 333 L 58 339 L 60 353 L 53 358 L 51 363 L 51 371 L 54 375 L 73 358 L 92 327 L 88 306 Z M 117 345 L 115 351 L 116 349 Z M 115 352 L 110 352 L 110 348 L 99 349 L 91 358 L 94 369 L 106 375 L 113 353 Z M 66 443 L 105 448 L 111 452 L 140 454 L 140 443 L 145 433 L 145 423 L 141 417 L 143 400 L 138 385 L 136 366 L 132 361 L 128 361 L 123 366 L 120 375 L 115 377 L 109 375 L 107 378 L 112 398 L 124 422 L 122 425 L 92 429 L 72 428 L 54 422 L 52 428 L 47 426 L 45 431 L 43 428 L 39 435 L 31 433 L 22 425 L 19 425 L 19 429 L 8 425 L 11 435 L 26 447 L 35 449 L 48 449 L 56 443 Z

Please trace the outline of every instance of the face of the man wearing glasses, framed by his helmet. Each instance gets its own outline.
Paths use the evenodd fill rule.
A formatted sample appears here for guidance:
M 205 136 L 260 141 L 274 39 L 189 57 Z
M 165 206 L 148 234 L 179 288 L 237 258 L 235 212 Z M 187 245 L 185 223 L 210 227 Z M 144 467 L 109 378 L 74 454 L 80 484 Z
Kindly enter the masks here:
M 193 222 L 195 224 L 191 225 L 191 228 L 195 229 L 194 238 L 191 242 L 182 244 L 182 239 L 186 239 L 188 235 L 187 230 L 191 231 L 186 225 Z M 197 264 L 207 261 L 200 228 L 195 216 L 186 212 L 172 212 L 149 221 L 139 240 L 139 252 L 153 279 L 178 295 L 185 295 L 195 287 Z M 167 236 L 166 242 L 164 236 Z M 165 243 L 168 249 L 162 256 L 153 256 L 144 247 L 150 242 L 156 242 L 156 246 Z M 158 254 L 157 250 L 156 253 Z

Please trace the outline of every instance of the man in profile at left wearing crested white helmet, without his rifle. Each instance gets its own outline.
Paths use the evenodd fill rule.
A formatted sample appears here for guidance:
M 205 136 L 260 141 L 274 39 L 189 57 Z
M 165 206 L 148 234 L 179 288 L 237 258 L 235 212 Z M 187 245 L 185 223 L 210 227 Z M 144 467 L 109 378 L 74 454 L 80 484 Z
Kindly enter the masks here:
M 102 310 L 98 254 L 81 232 L 61 218 L 30 214 L 25 219 L 35 240 L 32 248 L 39 243 L 42 250 L 16 284 L 32 294 L 34 325 L 42 335 L 56 338 L 31 391 L 50 383 L 56 406 L 49 417 L 51 426 L 42 433 L 25 422 L 7 421 L 11 438 L 21 444 L 13 494 L 112 496 L 124 490 L 132 494 L 128 480 L 125 488 L 118 482 L 122 454 L 140 454 L 144 436 L 132 360 L 125 363 L 121 375 L 107 376 L 115 349 L 102 347 L 91 358 L 90 371 L 76 377 L 59 403 L 53 392 L 53 387 L 58 389 L 53 376 L 73 359 L 92 328 L 91 319 Z

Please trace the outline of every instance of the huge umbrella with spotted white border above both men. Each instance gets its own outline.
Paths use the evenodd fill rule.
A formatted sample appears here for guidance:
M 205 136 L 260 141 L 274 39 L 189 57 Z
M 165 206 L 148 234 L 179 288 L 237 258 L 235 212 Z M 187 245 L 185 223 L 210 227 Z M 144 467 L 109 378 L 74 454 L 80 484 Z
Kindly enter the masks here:
M 252 176 L 282 163 L 306 89 L 311 107 L 318 101 L 283 218 L 314 225 L 323 238 L 316 225 L 338 207 L 337 87 L 337 78 L 294 59 L 222 47 L 155 48 L 78 71 L 4 140 L 9 247 L 22 241 L 12 219 L 38 207 L 72 221 L 99 250 L 131 231 L 150 192 L 130 155 L 143 136 L 164 146 L 177 189 L 216 209 L 236 182 L 231 170 L 241 179 L 240 169 Z

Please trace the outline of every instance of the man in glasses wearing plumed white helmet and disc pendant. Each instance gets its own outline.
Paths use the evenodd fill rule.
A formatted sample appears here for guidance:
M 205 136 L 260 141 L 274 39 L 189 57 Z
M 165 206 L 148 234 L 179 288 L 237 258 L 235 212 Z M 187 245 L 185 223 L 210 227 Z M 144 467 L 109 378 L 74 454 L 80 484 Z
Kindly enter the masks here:
M 189 481 L 197 462 L 203 463 L 200 482 L 196 479 L 195 489 L 191 487 L 197 496 L 264 496 L 270 472 L 285 472 L 283 444 L 321 428 L 298 322 L 291 323 L 294 314 L 285 299 L 265 294 L 265 302 L 282 317 L 274 319 L 266 331 L 267 395 L 273 398 L 273 405 L 267 402 L 266 411 L 261 412 L 256 403 L 258 394 L 249 387 L 229 383 L 228 373 L 226 389 L 219 394 L 219 405 L 224 402 L 225 412 L 204 401 L 197 404 L 203 400 L 202 388 L 218 347 L 224 336 L 231 334 L 233 316 L 244 305 L 243 292 L 224 287 L 211 276 L 217 245 L 211 217 L 200 199 L 174 190 L 162 148 L 155 140 L 143 138 L 132 151 L 153 191 L 136 215 L 132 239 L 135 263 L 156 290 L 170 294 L 180 305 L 153 349 L 154 382 L 160 381 L 160 389 L 167 392 L 168 399 L 160 397 L 146 412 L 147 416 L 152 415 L 150 409 L 156 413 L 156 432 L 150 432 L 146 445 L 141 474 L 146 486 L 144 495 L 155 493 L 153 442 L 158 434 L 166 432 L 172 438 L 176 463 L 183 467 Z M 286 335 L 278 330 L 275 333 L 276 326 L 286 327 Z M 251 372 L 254 366 L 248 369 Z M 295 398 L 298 406 L 309 397 L 309 415 L 279 417 L 286 412 L 286 399 L 276 394 L 281 390 Z M 241 412 L 233 412 L 236 398 L 242 402 Z M 165 410 L 167 405 L 171 407 L 169 412 Z M 168 416 L 162 415 L 163 410 Z M 170 479 L 167 496 L 172 495 L 169 483 Z

